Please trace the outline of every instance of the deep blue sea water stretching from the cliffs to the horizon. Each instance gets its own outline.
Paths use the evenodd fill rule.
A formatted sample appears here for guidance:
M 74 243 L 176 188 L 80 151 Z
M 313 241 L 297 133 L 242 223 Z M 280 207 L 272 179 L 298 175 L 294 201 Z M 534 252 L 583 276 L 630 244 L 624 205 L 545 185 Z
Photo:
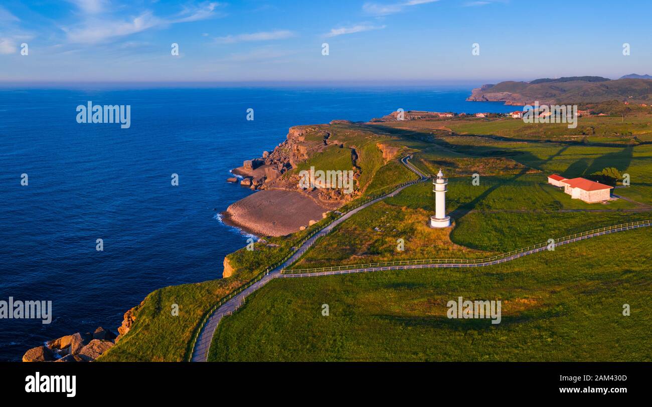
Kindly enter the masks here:
M 219 212 L 252 193 L 229 170 L 288 128 L 405 110 L 507 112 L 470 89 L 0 91 L 0 300 L 52 301 L 53 320 L 0 319 L 0 360 L 104 326 L 156 288 L 220 278 L 247 236 Z M 131 126 L 78 124 L 77 105 L 131 106 Z M 254 120 L 246 120 L 246 109 Z M 21 185 L 21 175 L 29 185 Z M 171 174 L 179 186 L 171 185 Z M 96 251 L 96 239 L 104 251 Z

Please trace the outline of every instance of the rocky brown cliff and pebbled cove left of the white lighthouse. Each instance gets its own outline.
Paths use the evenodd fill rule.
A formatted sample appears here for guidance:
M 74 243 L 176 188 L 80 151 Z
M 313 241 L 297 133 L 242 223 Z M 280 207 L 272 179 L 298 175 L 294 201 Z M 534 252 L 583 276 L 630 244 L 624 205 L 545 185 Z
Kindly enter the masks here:
M 286 140 L 271 152 L 264 151 L 260 157 L 233 169 L 233 174 L 243 177 L 241 186 L 259 192 L 231 204 L 222 220 L 254 234 L 284 236 L 312 225 L 323 218 L 323 213 L 359 197 L 364 187 L 359 182 L 359 143 L 351 143 L 349 135 L 340 137 L 335 129 L 349 124 L 335 120 L 330 124 L 291 127 Z M 382 149 L 378 148 L 380 153 Z M 395 148 L 385 146 L 385 150 L 385 160 L 396 155 Z M 306 188 L 301 184 L 300 171 L 312 167 L 351 171 L 351 190 L 338 186 Z

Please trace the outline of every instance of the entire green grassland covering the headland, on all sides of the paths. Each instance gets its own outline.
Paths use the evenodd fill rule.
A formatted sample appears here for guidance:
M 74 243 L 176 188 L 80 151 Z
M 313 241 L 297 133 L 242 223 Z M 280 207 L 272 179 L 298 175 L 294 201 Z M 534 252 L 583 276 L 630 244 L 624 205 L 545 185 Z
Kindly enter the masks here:
M 319 126 L 338 145 L 293 171 L 310 165 L 345 169 L 340 167 L 355 160 L 369 196 L 416 178 L 398 161 L 412 152 L 422 171 L 442 168 L 451 177 L 447 211 L 454 228 L 427 226 L 434 212 L 432 185 L 420 183 L 349 218 L 295 267 L 477 259 L 650 219 L 652 212 L 627 211 L 652 204 L 652 145 L 645 144 L 652 120 L 619 120 L 582 118 L 572 132 L 565 126 L 524 127 L 512 119 Z M 312 141 L 323 137 L 318 131 L 306 135 Z M 398 154 L 385 160 L 379 142 L 397 147 Z M 571 178 L 606 167 L 629 174 L 631 186 L 615 193 L 638 203 L 587 204 L 546 184 L 550 173 Z M 474 173 L 480 175 L 477 186 L 471 184 Z M 260 243 L 255 251 L 231 253 L 232 277 L 151 293 L 132 330 L 99 360 L 186 359 L 198 323 L 219 298 L 332 219 L 334 214 L 305 231 L 267 239 L 278 247 Z M 211 359 L 649 360 L 644 335 L 652 328 L 645 312 L 652 294 L 650 236 L 647 229 L 619 232 L 489 268 L 274 280 L 220 323 Z M 398 239 L 404 251 L 397 250 Z M 503 322 L 445 318 L 446 302 L 457 296 L 504 301 Z M 170 315 L 173 303 L 179 316 Z M 322 303 L 330 305 L 331 316 L 321 316 Z M 632 305 L 631 316 L 621 315 L 623 303 Z

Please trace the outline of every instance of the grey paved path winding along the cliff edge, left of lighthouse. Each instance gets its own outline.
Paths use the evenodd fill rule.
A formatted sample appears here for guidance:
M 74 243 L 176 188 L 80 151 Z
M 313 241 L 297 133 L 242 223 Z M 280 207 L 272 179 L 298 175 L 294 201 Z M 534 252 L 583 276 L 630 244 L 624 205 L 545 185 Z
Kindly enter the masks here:
M 410 182 L 407 185 L 404 185 L 400 188 L 394 189 L 394 191 L 388 193 L 387 195 L 383 195 L 379 198 L 374 199 L 373 201 L 369 201 L 368 203 L 365 203 L 358 208 L 355 208 L 353 210 L 350 210 L 344 216 L 341 216 L 340 218 L 334 220 L 331 222 L 327 227 L 324 229 L 321 229 L 321 231 L 317 232 L 312 236 L 310 239 L 306 240 L 306 242 L 299 247 L 299 249 L 294 253 L 292 257 L 290 257 L 286 262 L 278 266 L 277 268 L 274 268 L 269 274 L 265 275 L 262 279 L 254 283 L 251 287 L 248 287 L 243 290 L 240 294 L 237 296 L 234 296 L 231 298 L 231 300 L 228 300 L 227 302 L 224 303 L 221 307 L 216 309 L 211 316 L 209 316 L 208 320 L 206 321 L 206 324 L 201 328 L 200 334 L 197 338 L 197 341 L 195 343 L 195 347 L 192 350 L 192 358 L 190 361 L 200 361 L 200 362 L 205 362 L 207 357 L 208 357 L 208 352 L 209 349 L 211 348 L 211 340 L 213 339 L 213 334 L 215 333 L 215 330 L 217 328 L 217 325 L 220 323 L 220 320 L 225 315 L 230 315 L 233 313 L 235 310 L 237 310 L 240 305 L 244 303 L 244 299 L 251 294 L 252 292 L 258 290 L 258 288 L 263 287 L 263 285 L 269 283 L 274 277 L 280 277 L 281 276 L 281 270 L 292 264 L 293 262 L 297 261 L 303 253 L 305 253 L 306 250 L 310 248 L 314 244 L 314 242 L 320 238 L 321 236 L 324 236 L 325 234 L 328 234 L 333 230 L 334 227 L 339 225 L 340 223 L 346 221 L 346 219 L 351 218 L 351 216 L 357 214 L 364 208 L 367 208 L 370 205 L 373 205 L 377 203 L 378 201 L 382 201 L 385 198 L 393 197 L 400 191 L 402 191 L 404 188 L 407 188 L 410 185 L 416 184 L 417 182 L 423 182 L 425 180 L 428 180 L 428 176 L 424 175 L 419 169 L 414 167 L 411 163 L 409 163 L 409 158 L 411 156 L 405 156 L 404 158 L 401 159 L 401 162 L 406 165 L 411 171 L 417 173 L 421 178 L 418 180 L 415 180 L 413 182 Z

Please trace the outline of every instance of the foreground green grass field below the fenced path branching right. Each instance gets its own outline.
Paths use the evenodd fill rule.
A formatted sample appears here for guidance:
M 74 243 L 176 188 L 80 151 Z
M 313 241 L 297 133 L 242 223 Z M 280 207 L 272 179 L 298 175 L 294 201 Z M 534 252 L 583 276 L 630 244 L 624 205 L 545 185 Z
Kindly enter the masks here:
M 209 360 L 650 361 L 650 236 L 618 232 L 486 268 L 276 279 L 222 320 Z M 458 296 L 501 300 L 501 323 L 447 318 Z

